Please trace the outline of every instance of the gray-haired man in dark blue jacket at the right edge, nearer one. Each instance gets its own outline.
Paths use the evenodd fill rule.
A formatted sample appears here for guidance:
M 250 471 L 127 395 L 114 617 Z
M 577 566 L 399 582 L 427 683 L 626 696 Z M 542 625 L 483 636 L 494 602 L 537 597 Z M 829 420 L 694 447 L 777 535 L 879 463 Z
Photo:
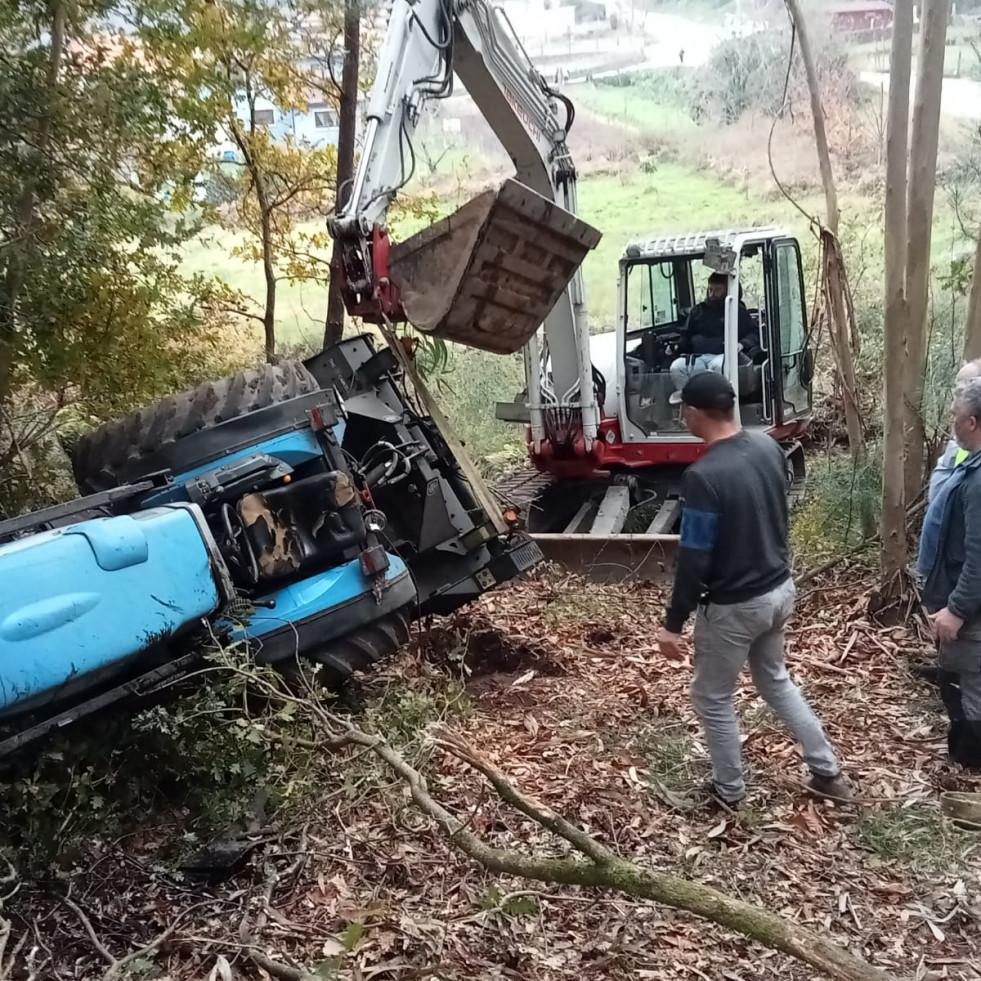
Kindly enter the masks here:
M 948 754 L 981 767 L 981 378 L 956 390 L 951 414 L 954 438 L 968 455 L 930 502 L 917 571 L 939 645 Z

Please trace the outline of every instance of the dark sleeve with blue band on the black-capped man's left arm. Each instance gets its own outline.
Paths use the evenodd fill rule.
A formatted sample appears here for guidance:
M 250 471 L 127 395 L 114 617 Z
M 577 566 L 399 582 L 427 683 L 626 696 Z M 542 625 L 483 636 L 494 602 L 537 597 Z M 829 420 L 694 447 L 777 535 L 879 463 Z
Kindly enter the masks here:
M 691 467 L 685 472 L 682 494 L 684 507 L 678 568 L 671 603 L 664 618 L 665 629 L 673 634 L 681 633 L 685 621 L 698 606 L 719 531 L 719 502 L 715 490 Z

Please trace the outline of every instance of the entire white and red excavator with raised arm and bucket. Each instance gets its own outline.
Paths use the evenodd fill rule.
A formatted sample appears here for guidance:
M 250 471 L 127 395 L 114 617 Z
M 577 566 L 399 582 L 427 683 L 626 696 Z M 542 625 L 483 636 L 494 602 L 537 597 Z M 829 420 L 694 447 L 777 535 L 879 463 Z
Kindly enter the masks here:
M 386 215 L 412 177 L 416 122 L 455 79 L 515 175 L 393 244 Z M 546 557 L 601 579 L 670 570 L 681 474 L 704 449 L 684 429 L 672 365 L 681 357 L 689 367 L 681 341 L 709 269 L 728 284 L 715 353 L 740 418 L 779 440 L 796 473 L 810 380 L 795 240 L 754 226 L 630 245 L 616 330 L 591 338 L 581 263 L 600 234 L 577 215 L 566 144 L 575 109 L 532 65 L 500 8 L 490 0 L 394 0 L 366 117 L 351 193 L 330 223 L 348 311 L 494 353 L 524 349 L 527 390 L 499 403 L 497 414 L 527 426 L 530 479 L 546 486 L 529 500 L 500 488 L 498 496 L 516 505 Z M 762 262 L 758 278 L 767 285 L 755 309 L 759 351 L 744 364 L 738 295 L 750 260 Z

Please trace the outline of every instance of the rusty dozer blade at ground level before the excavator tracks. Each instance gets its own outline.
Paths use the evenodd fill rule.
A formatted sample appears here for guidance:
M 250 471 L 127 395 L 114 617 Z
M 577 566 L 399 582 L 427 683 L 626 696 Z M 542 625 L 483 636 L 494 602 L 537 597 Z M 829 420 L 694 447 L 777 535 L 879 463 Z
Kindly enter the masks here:
M 533 534 L 546 562 L 592 582 L 671 580 L 678 558 L 677 535 Z

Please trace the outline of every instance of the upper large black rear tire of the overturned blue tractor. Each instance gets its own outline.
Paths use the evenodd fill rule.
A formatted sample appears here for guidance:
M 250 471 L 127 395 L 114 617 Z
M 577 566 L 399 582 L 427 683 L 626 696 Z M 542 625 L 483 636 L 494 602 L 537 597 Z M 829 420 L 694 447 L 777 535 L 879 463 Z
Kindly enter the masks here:
M 137 480 L 159 469 L 157 452 L 186 436 L 319 390 L 299 361 L 283 361 L 170 395 L 78 439 L 71 450 L 75 481 L 83 494 L 95 494 Z

